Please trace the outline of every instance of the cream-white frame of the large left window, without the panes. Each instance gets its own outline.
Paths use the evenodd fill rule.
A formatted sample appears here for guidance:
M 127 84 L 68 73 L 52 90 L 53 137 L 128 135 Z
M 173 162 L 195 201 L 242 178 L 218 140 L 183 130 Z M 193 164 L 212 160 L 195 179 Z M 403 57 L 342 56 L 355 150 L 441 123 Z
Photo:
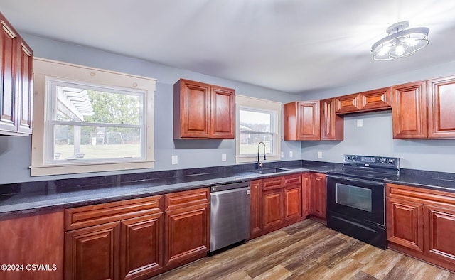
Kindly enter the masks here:
M 106 87 L 118 87 L 131 89 L 134 92 L 144 92 L 144 142 L 145 149 L 143 158 L 131 158 L 119 161 L 117 159 L 107 161 L 65 161 L 56 163 L 47 161 L 45 153 L 48 153 L 47 143 L 49 137 L 46 122 L 52 108 L 50 104 L 50 81 L 65 80 L 84 84 L 105 85 Z M 33 59 L 33 134 L 31 149 L 31 176 L 48 176 L 60 174 L 89 173 L 102 171 L 120 171 L 154 167 L 154 92 L 156 80 L 149 77 L 112 72 L 97 68 L 89 68 L 81 65 L 62 63 L 43 58 Z M 53 139 L 53 138 L 52 138 Z M 52 141 L 52 140 L 50 140 Z

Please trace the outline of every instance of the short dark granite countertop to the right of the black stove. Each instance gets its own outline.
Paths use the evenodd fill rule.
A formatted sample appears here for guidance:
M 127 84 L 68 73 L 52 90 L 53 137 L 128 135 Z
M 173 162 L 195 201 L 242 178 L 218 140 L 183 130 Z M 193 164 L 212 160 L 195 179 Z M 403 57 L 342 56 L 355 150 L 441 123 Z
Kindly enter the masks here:
M 397 178 L 387 178 L 387 183 L 410 185 L 455 193 L 455 173 L 421 171 L 402 168 Z

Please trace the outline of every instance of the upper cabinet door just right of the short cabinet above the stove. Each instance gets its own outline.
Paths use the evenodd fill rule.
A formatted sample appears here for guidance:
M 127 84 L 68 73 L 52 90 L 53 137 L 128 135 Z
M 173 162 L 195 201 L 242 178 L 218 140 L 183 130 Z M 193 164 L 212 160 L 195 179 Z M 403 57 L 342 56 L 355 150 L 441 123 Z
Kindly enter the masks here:
M 393 139 L 427 138 L 427 89 L 425 82 L 392 87 Z

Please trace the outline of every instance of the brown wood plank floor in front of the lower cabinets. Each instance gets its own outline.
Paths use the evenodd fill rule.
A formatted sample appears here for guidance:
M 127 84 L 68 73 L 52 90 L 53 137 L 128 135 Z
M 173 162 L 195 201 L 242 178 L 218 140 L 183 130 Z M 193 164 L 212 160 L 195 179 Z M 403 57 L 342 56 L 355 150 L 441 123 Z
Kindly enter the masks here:
M 152 279 L 455 280 L 455 274 L 304 220 Z

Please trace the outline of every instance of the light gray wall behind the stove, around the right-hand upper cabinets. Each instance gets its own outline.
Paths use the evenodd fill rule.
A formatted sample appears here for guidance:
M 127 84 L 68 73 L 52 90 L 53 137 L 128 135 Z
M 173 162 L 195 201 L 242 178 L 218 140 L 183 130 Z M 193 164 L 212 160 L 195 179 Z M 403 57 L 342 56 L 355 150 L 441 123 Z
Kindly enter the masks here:
M 355 86 L 339 88 L 336 91 L 308 93 L 303 95 L 302 99 L 324 99 L 454 74 L 455 62 L 451 61 L 437 67 L 363 82 Z M 360 119 L 363 121 L 362 127 L 357 126 Z M 301 147 L 302 158 L 308 160 L 341 163 L 343 154 L 395 156 L 400 158 L 402 168 L 455 173 L 455 140 L 394 140 L 390 110 L 346 115 L 343 141 L 302 141 Z M 322 151 L 322 158 L 317 157 L 318 151 Z

